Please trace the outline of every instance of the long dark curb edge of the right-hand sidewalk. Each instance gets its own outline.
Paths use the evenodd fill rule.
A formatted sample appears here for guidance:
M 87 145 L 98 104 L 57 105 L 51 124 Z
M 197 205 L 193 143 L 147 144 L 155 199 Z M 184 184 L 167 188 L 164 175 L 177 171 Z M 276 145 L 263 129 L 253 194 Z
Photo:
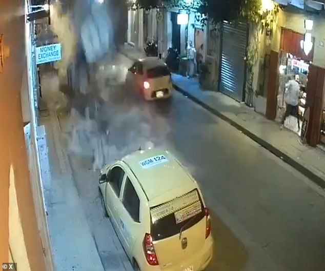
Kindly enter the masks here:
M 197 99 L 191 93 L 185 91 L 184 89 L 181 89 L 180 87 L 178 87 L 175 84 L 173 84 L 173 87 L 175 88 L 175 90 L 177 90 L 178 92 L 182 93 L 183 95 L 188 96 L 188 98 L 190 100 L 192 100 L 193 102 L 195 102 L 198 105 L 202 106 L 203 108 L 205 108 L 206 110 L 208 110 L 210 113 L 216 115 L 221 120 L 226 121 L 227 123 L 229 123 L 230 125 L 232 125 L 236 129 L 240 130 L 243 134 L 247 135 L 247 137 L 249 137 L 250 139 L 252 139 L 256 143 L 258 143 L 259 145 L 261 145 L 263 148 L 266 148 L 267 150 L 269 150 L 270 152 L 272 152 L 275 156 L 277 156 L 282 161 L 286 162 L 287 164 L 289 164 L 290 166 L 292 166 L 293 168 L 295 168 L 296 170 L 298 170 L 304 176 L 308 177 L 311 181 L 313 181 L 319 187 L 325 189 L 325 180 L 324 179 L 322 179 L 320 176 L 318 176 L 317 174 L 315 174 L 313 171 L 311 171 L 310 169 L 304 167 L 303 165 L 301 165 L 300 163 L 298 163 L 297 161 L 295 161 L 294 159 L 292 159 L 291 157 L 289 157 L 288 154 L 286 154 L 286 153 L 282 152 L 281 150 L 277 149 L 276 147 L 274 147 L 273 145 L 271 145 L 267 141 L 265 141 L 265 140 L 257 137 L 257 135 L 255 135 L 254 133 L 252 133 L 251 131 L 249 131 L 248 129 L 246 129 L 244 126 L 236 123 L 235 121 L 233 121 L 230 118 L 228 118 L 225 114 L 222 114 L 217 109 L 212 108 L 211 106 L 209 106 L 206 103 L 202 102 L 201 100 Z

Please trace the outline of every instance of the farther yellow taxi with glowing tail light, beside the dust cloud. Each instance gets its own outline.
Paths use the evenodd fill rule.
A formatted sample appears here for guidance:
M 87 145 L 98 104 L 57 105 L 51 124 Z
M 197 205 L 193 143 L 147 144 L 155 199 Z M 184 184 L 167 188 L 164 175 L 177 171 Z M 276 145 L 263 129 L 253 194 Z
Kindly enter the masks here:
M 173 90 L 171 73 L 158 57 L 135 61 L 128 69 L 126 81 L 131 82 L 147 101 L 170 98 Z

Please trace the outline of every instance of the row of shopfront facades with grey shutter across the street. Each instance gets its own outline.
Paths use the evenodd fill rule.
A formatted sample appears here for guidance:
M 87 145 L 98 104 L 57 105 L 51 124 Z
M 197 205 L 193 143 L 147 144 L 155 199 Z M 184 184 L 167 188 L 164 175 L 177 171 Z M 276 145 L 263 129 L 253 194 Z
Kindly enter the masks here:
M 285 85 L 294 73 L 303 92 L 299 106 L 302 121 L 305 110 L 303 104 L 308 95 L 306 89 L 309 67 L 313 65 L 325 68 L 325 4 L 312 0 L 303 4 L 300 2 L 263 0 L 262 11 L 272 11 L 276 3 L 280 4 L 271 26 L 265 29 L 261 28 L 261 24 L 252 24 L 245 20 L 236 23 L 222 22 L 217 26 L 207 24 L 202 27 L 196 20 L 199 14 L 194 11 L 186 11 L 188 20 L 179 23 L 178 14 L 184 11 L 177 8 L 129 11 L 128 41 L 132 44 L 131 40 L 135 40 L 133 44 L 140 49 L 145 47 L 147 40 L 156 41 L 158 54 L 162 59 L 165 59 L 170 47 L 177 49 L 180 59 L 186 57 L 187 42 L 192 41 L 196 51 L 202 48 L 203 62 L 210 72 L 210 90 L 220 91 L 267 115 L 268 95 L 271 95 L 270 88 L 273 88 L 275 94 L 272 95 L 276 97 L 273 102 L 276 105 L 272 109 L 274 117 L 271 119 L 278 122 L 286 108 L 283 99 Z M 310 30 L 306 30 L 306 20 L 313 22 Z M 306 36 L 310 38 L 310 42 L 305 41 Z M 306 43 L 312 44 L 308 52 L 305 50 L 306 46 L 303 46 Z M 252 72 L 248 65 L 250 50 L 255 52 L 255 61 L 251 64 Z M 270 76 L 270 65 L 274 62 L 270 59 L 272 51 L 277 53 L 277 70 Z M 285 66 L 286 70 L 279 70 Z M 276 84 L 270 86 L 273 81 Z M 325 115 L 324 107 L 322 102 L 322 116 Z M 324 123 L 323 118 L 321 122 Z M 298 134 L 300 132 L 297 130 Z M 325 132 L 320 139 L 325 140 L 324 136 Z

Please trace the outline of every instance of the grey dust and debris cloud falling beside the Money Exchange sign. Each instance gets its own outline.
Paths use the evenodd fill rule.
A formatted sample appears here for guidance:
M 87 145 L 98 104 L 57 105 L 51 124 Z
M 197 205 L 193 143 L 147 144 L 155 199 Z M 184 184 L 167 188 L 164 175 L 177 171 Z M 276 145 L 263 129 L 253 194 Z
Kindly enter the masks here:
M 43 75 L 49 110 L 64 115 L 69 152 L 92 159 L 93 170 L 139 147 L 160 145 L 169 132 L 166 121 L 153 120 L 150 109 L 130 95 L 125 80 L 131 61 L 118 54 L 125 34 L 120 14 L 127 10 L 121 1 L 105 3 L 78 0 L 65 11 L 53 7 L 51 28 L 64 48 L 63 60 L 56 72 Z M 159 131 L 151 129 L 153 123 Z

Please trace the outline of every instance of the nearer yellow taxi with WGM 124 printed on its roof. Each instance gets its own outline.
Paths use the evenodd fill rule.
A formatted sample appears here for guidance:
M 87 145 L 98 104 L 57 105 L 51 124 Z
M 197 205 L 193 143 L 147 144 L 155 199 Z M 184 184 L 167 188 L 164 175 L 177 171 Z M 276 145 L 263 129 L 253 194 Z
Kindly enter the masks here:
M 209 210 L 169 151 L 139 150 L 105 166 L 99 192 L 134 270 L 199 271 L 211 261 Z

